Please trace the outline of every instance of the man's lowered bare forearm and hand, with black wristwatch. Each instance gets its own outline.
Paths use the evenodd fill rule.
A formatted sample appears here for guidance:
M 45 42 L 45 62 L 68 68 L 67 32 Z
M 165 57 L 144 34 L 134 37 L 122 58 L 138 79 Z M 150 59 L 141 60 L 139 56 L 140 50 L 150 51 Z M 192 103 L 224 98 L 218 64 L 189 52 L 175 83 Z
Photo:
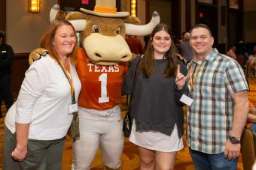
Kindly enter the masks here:
M 241 138 L 242 130 L 245 126 L 245 122 L 248 114 L 248 96 L 247 91 L 239 91 L 231 94 L 235 106 L 233 108 L 233 126 L 230 132 L 230 136 Z M 227 140 L 224 154 L 229 160 L 233 160 L 239 156 L 241 145 L 232 144 L 230 140 Z

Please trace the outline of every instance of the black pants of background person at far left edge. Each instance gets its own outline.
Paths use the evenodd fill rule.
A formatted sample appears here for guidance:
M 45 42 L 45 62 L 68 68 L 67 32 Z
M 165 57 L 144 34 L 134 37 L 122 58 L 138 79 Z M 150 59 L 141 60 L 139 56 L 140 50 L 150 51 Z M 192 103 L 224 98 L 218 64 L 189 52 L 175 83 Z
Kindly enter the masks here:
M 2 101 L 5 101 L 5 106 L 8 109 L 13 105 L 14 98 L 11 94 L 11 74 L 0 73 L 0 114 Z

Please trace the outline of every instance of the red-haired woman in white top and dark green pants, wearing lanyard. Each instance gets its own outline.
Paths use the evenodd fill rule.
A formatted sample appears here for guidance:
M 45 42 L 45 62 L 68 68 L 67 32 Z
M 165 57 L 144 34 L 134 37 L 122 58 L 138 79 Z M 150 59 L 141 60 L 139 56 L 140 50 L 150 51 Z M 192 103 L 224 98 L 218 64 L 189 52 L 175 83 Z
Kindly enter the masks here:
M 62 150 L 81 90 L 75 28 L 54 21 L 41 37 L 41 48 L 48 55 L 26 71 L 17 102 L 5 117 L 5 170 L 62 169 Z

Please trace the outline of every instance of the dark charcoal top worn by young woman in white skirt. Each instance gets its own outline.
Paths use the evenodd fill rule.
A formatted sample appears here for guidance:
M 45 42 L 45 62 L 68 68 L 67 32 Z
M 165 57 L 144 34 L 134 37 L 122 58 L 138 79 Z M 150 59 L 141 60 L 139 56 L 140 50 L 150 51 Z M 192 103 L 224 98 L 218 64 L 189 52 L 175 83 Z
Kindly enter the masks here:
M 126 76 L 123 93 L 130 94 L 133 87 L 133 73 L 139 57 L 133 60 Z M 183 134 L 183 104 L 179 102 L 187 88 L 175 88 L 175 77 L 163 77 L 166 60 L 156 60 L 156 71 L 146 78 L 142 72 L 136 73 L 135 86 L 130 111 L 136 120 L 136 130 L 155 130 L 168 136 L 172 134 L 177 124 L 178 137 Z M 186 67 L 179 61 L 181 73 L 186 73 Z

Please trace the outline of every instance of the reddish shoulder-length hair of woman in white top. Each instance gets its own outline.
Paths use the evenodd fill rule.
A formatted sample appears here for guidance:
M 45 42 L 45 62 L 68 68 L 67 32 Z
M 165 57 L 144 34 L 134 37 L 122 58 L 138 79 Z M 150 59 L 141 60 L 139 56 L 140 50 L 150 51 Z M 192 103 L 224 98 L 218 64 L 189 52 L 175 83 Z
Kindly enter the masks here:
M 59 55 L 57 54 L 56 49 L 53 46 L 53 40 L 56 34 L 56 30 L 62 25 L 71 26 L 75 34 L 75 28 L 70 22 L 66 20 L 58 19 L 58 20 L 54 20 L 53 23 L 47 28 L 47 30 L 44 32 L 43 36 L 41 37 L 41 41 L 40 41 L 41 48 L 47 49 L 49 55 L 53 59 L 55 59 L 59 64 L 60 64 Z M 72 64 L 76 63 L 77 54 L 78 54 L 78 37 L 75 34 L 74 49 L 72 50 L 72 53 L 67 55 L 67 57 L 70 58 L 70 60 L 72 61 Z

